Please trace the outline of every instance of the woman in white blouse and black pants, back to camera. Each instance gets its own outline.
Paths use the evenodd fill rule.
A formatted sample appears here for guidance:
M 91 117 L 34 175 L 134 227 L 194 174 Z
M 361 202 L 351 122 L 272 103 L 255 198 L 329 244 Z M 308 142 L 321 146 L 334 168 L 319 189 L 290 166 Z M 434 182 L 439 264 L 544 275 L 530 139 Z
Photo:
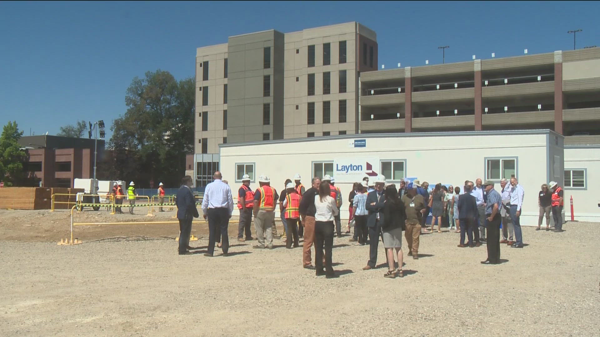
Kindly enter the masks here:
M 316 275 L 326 278 L 338 277 L 331 267 L 331 251 L 334 245 L 334 216 L 338 215 L 337 204 L 331 197 L 328 182 L 319 185 L 319 196 L 314 198 L 314 264 Z M 323 246 L 325 246 L 325 271 L 323 271 Z

